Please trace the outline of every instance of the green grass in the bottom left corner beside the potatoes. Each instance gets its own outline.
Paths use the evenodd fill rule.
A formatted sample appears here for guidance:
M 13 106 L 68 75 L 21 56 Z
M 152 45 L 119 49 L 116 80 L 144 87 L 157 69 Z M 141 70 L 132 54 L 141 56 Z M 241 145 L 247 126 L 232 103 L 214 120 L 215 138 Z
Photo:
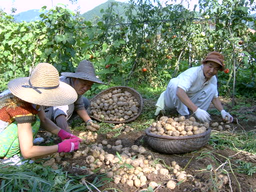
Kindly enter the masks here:
M 54 170 L 36 163 L 20 166 L 0 164 L 0 191 L 78 192 L 93 190 L 94 186 L 100 187 L 103 185 L 103 178 L 100 176 L 95 177 L 87 186 L 80 184 L 79 180 L 87 176 L 70 175 L 61 168 Z

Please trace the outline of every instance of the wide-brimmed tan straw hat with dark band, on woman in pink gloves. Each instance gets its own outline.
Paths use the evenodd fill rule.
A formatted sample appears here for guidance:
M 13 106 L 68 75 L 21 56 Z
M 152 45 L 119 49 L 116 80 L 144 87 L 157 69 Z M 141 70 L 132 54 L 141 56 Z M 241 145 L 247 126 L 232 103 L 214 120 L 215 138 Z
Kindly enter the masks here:
M 66 105 L 77 99 L 76 91 L 59 81 L 57 69 L 49 63 L 37 64 L 29 77 L 11 80 L 8 89 L 20 99 L 38 105 Z

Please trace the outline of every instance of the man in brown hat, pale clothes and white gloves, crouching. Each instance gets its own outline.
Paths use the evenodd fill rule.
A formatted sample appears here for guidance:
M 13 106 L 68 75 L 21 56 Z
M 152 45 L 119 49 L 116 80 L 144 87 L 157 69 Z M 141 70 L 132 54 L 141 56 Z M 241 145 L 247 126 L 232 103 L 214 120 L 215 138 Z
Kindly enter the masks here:
M 190 110 L 198 120 L 208 122 L 211 119 L 206 110 L 212 102 L 222 119 L 232 122 L 233 117 L 223 109 L 217 92 L 215 75 L 224 70 L 223 61 L 224 56 L 219 52 L 209 52 L 200 66 L 188 68 L 170 79 L 155 104 L 155 115 L 164 108 L 175 108 L 180 115 L 189 115 Z

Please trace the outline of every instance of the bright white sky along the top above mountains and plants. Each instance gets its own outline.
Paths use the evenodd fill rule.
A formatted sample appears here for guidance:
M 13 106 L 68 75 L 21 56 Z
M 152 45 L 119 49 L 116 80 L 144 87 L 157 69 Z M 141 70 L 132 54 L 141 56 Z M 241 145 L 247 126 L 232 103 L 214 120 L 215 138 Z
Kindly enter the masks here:
M 40 9 L 44 5 L 47 6 L 46 9 L 49 9 L 52 6 L 57 5 L 58 3 L 62 3 L 62 4 L 68 5 L 67 8 L 71 10 L 76 10 L 77 7 L 79 6 L 78 10 L 80 11 L 80 13 L 84 13 L 106 1 L 107 0 L 77 0 L 76 4 L 72 4 L 70 3 L 69 0 L 0 0 L 0 8 L 7 14 L 11 14 L 11 11 L 10 11 L 11 8 L 15 7 L 16 11 L 14 14 L 18 14 L 20 12 L 27 11 L 30 9 Z M 129 0 L 116 0 L 116 1 L 128 2 Z M 173 0 L 169 0 L 169 1 L 170 3 L 173 2 Z M 178 1 L 180 0 L 176 0 L 176 2 Z M 195 3 L 197 4 L 198 0 L 191 0 L 189 9 L 193 9 L 193 6 Z M 187 7 L 186 4 L 184 4 L 184 6 Z

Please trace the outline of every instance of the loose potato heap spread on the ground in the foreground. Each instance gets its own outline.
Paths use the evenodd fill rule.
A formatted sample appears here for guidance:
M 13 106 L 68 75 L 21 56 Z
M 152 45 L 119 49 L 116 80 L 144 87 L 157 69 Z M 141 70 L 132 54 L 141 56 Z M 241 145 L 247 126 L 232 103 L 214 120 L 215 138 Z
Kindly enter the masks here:
M 118 153 L 116 155 L 110 154 L 104 151 L 104 148 L 112 148 Z M 153 163 L 152 156 L 146 154 L 146 149 L 143 146 L 123 147 L 121 140 L 116 140 L 114 145 L 102 140 L 101 143 L 86 146 L 85 149 L 77 150 L 72 153 L 73 155 L 70 154 L 56 153 L 55 161 L 60 162 L 61 157 L 76 159 L 83 156 L 89 174 L 94 174 L 93 171 L 98 170 L 99 173 L 106 173 L 107 177 L 113 178 L 116 184 L 121 182 L 129 186 L 140 187 L 146 185 L 147 187 L 146 173 L 164 175 L 169 180 L 166 182 L 166 186 L 171 189 L 175 188 L 176 182 L 194 179 L 192 175 L 182 171 L 175 161 L 172 161 L 169 169 L 167 169 L 161 164 Z M 62 161 L 61 164 L 67 166 L 68 162 Z M 75 166 L 76 163 L 74 162 L 71 165 Z M 148 186 L 155 188 L 158 184 L 151 181 Z

